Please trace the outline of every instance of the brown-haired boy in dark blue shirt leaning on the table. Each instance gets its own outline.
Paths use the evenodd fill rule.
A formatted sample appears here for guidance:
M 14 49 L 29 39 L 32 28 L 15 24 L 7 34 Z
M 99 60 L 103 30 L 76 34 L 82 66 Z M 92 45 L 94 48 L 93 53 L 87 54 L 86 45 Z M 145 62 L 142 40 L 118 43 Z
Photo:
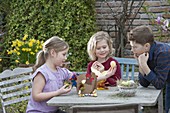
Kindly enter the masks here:
M 154 41 L 148 26 L 139 26 L 128 34 L 131 50 L 139 64 L 139 83 L 143 87 L 152 84 L 165 92 L 165 110 L 170 109 L 170 46 Z

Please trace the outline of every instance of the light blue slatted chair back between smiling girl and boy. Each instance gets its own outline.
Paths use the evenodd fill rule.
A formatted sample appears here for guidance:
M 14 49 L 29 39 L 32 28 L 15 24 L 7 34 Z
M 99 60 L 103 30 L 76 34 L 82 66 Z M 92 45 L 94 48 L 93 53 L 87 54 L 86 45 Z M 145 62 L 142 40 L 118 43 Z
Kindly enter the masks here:
M 137 60 L 134 58 L 114 58 L 119 62 L 121 66 L 122 79 L 135 80 L 135 67 L 138 66 Z

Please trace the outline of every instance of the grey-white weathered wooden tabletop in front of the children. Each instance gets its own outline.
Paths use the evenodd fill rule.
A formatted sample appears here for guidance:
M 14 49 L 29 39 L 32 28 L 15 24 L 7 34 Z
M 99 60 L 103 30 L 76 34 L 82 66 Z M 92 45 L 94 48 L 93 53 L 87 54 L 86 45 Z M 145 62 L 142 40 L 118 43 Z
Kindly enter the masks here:
M 155 106 L 161 90 L 154 87 L 144 88 L 139 86 L 134 97 L 117 96 L 116 87 L 109 90 L 97 90 L 97 97 L 79 97 L 74 87 L 71 92 L 51 98 L 47 104 L 49 106 L 74 106 L 74 105 L 103 105 L 103 104 L 124 104 L 137 103 L 141 106 Z

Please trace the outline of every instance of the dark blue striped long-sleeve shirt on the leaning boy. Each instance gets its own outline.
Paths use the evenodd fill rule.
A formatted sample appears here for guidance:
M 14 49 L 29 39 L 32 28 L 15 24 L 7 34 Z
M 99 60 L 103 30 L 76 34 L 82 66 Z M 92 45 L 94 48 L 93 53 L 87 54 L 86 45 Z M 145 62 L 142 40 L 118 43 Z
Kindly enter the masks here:
M 170 46 L 161 42 L 154 42 L 149 51 L 147 62 L 151 72 L 143 76 L 139 73 L 139 83 L 147 87 L 152 84 L 156 89 L 162 89 L 166 82 L 170 82 Z

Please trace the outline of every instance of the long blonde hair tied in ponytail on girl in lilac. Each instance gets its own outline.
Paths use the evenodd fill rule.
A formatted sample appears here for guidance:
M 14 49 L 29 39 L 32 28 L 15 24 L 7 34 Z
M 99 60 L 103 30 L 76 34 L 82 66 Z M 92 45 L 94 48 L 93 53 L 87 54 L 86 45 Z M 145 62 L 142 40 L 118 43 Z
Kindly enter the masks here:
M 36 64 L 33 67 L 34 71 L 46 62 L 46 59 L 50 55 L 49 53 L 51 49 L 54 49 L 55 52 L 58 53 L 68 48 L 69 48 L 68 44 L 58 36 L 53 36 L 50 39 L 48 39 L 43 44 L 43 49 L 39 51 L 37 54 Z

